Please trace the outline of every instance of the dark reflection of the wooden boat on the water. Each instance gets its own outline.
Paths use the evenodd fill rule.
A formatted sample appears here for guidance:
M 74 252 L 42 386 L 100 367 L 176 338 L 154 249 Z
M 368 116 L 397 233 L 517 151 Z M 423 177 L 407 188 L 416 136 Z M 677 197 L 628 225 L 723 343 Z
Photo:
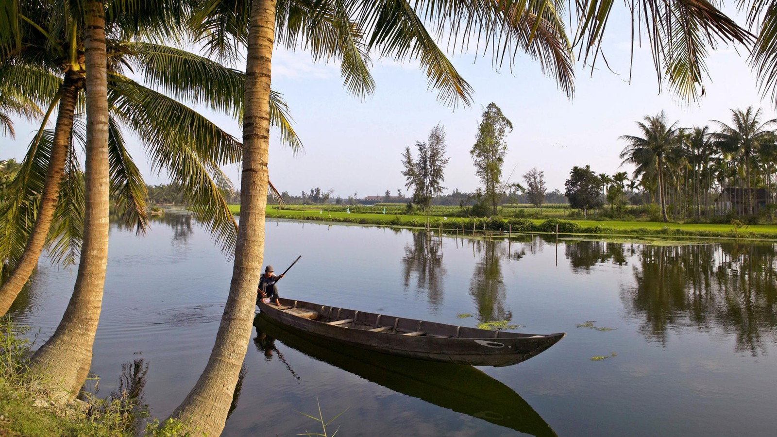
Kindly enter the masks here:
M 514 390 L 471 365 L 425 362 L 352 348 L 292 332 L 261 313 L 253 324 L 257 333 L 254 343 L 267 359 L 271 355 L 280 356 L 274 345 L 274 340 L 278 340 L 397 393 L 518 432 L 556 435 Z

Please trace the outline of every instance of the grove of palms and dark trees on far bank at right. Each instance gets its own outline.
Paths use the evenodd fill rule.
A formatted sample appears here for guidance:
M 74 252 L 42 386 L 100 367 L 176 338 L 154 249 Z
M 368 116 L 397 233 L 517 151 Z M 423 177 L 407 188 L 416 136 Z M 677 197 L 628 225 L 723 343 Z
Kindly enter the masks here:
M 775 211 L 777 119 L 763 120 L 762 110 L 731 110 L 730 123 L 681 128 L 666 114 L 638 121 L 639 134 L 622 135 L 620 154 L 626 172 L 596 174 L 575 166 L 566 180 L 570 205 L 587 212 L 610 205 L 614 214 L 625 205 L 657 205 L 660 220 L 746 218 Z M 627 198 L 627 194 L 629 197 Z

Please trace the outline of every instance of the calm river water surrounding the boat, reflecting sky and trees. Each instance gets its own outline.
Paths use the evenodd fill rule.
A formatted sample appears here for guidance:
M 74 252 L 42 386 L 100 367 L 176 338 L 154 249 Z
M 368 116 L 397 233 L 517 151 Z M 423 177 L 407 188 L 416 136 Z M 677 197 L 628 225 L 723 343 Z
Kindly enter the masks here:
M 165 418 L 207 362 L 231 264 L 185 216 L 168 215 L 145 237 L 111 232 L 92 363 L 98 395 L 117 388 L 123 365 L 143 360 L 145 402 Z M 320 432 L 294 412 L 315 414 L 317 400 L 327 419 L 347 409 L 334 421 L 338 435 L 777 428 L 773 244 L 507 243 L 268 222 L 266 253 L 279 272 L 302 255 L 280 282 L 284 297 L 465 326 L 509 320 L 567 336 L 528 362 L 475 369 L 363 354 L 260 325 L 225 435 Z M 17 320 L 51 335 L 73 281 L 75 270 L 42 261 L 16 302 Z

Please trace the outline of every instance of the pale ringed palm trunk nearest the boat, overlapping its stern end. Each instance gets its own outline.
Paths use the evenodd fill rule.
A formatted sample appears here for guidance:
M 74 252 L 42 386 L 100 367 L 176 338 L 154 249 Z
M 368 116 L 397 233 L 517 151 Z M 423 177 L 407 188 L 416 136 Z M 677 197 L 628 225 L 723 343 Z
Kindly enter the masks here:
M 197 428 L 198 433 L 207 435 L 219 435 L 224 428 L 251 337 L 264 251 L 274 27 L 275 0 L 254 0 L 246 59 L 240 225 L 232 282 L 211 357 L 197 384 L 171 414 L 190 430 Z

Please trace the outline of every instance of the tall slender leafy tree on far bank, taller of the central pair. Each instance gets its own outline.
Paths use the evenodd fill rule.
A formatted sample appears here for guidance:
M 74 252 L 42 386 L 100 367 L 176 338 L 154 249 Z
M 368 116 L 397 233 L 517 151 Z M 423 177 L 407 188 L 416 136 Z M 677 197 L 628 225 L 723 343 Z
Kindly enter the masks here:
M 497 187 L 502 177 L 502 164 L 507 154 L 504 135 L 513 130 L 513 124 L 502 115 L 502 110 L 489 103 L 483 111 L 483 119 L 478 124 L 475 145 L 469 154 L 475 164 L 475 172 L 484 186 L 485 201 L 490 205 L 492 214 L 497 214 L 499 194 Z

